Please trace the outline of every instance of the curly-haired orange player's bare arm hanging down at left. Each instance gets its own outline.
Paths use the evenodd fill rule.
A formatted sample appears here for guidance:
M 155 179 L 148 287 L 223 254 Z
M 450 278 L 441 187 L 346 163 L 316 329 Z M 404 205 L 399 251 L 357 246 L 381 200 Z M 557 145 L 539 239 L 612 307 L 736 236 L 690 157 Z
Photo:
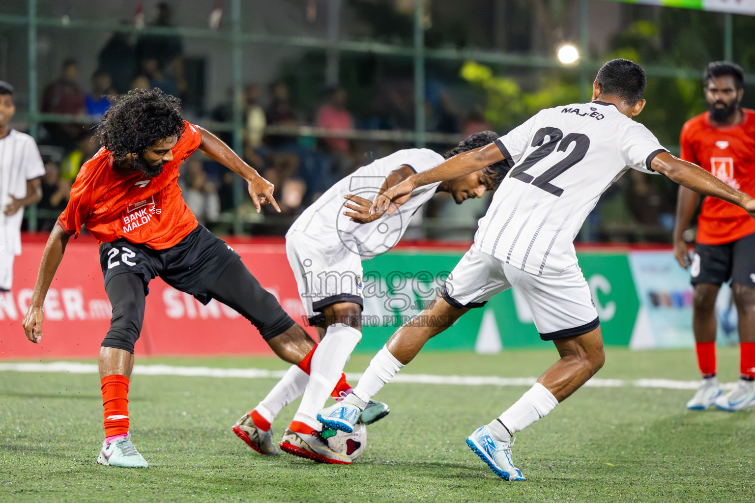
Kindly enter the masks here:
M 66 234 L 63 227 L 55 222 L 50 238 L 45 245 L 45 253 L 42 254 L 42 263 L 39 265 L 37 284 L 34 287 L 34 293 L 32 293 L 29 310 L 23 317 L 23 330 L 31 342 L 42 341 L 42 321 L 45 318 L 42 305 L 45 304 L 45 297 L 52 284 L 52 278 L 54 278 L 57 266 L 63 259 L 63 253 L 66 251 L 66 244 L 68 244 L 70 238 L 71 236 Z

